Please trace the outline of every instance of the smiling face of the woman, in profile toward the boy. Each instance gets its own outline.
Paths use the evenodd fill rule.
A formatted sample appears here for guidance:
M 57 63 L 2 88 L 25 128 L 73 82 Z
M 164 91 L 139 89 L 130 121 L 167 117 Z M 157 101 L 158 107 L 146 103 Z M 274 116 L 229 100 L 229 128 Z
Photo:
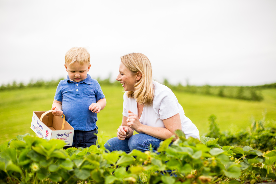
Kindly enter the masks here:
M 134 84 L 136 83 L 136 75 L 126 68 L 126 66 L 121 62 L 119 66 L 119 75 L 116 80 L 120 81 L 123 85 L 124 91 L 133 91 Z

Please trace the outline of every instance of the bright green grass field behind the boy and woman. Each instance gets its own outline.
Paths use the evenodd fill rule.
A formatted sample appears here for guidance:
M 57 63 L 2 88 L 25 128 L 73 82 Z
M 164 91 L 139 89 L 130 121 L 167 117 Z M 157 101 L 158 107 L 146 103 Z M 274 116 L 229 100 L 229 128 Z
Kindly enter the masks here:
M 0 92 L 0 144 L 17 135 L 35 135 L 31 126 L 33 111 L 51 109 L 56 88 L 24 88 Z M 107 106 L 98 114 L 99 132 L 105 138 L 116 136 L 122 120 L 123 88 L 102 86 Z M 200 135 L 209 130 L 208 118 L 216 115 L 221 131 L 238 131 L 251 125 L 251 118 L 276 120 L 276 89 L 263 90 L 261 102 L 174 92 L 185 115 L 198 127 Z

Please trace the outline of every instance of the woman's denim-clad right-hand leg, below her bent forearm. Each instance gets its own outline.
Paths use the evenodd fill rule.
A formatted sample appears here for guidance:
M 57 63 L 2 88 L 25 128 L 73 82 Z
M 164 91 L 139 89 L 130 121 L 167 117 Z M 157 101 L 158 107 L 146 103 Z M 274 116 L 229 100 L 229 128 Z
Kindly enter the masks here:
M 132 135 L 129 138 L 128 147 L 131 151 L 133 149 L 137 149 L 142 152 L 149 151 L 152 147 L 152 151 L 156 152 L 161 141 L 163 140 L 144 133 L 138 133 L 138 134 Z

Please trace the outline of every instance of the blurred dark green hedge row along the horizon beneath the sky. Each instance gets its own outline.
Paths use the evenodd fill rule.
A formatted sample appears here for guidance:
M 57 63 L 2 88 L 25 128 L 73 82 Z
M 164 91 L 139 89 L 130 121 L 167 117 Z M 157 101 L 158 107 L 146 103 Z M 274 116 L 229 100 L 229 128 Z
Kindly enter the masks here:
M 12 84 L 2 85 L 0 86 L 0 91 L 2 90 L 13 90 L 13 89 L 22 89 L 28 87 L 55 87 L 58 85 L 59 80 L 31 80 L 28 84 L 13 82 Z M 107 79 L 97 79 L 100 85 L 113 85 L 120 86 L 121 84 L 117 81 L 111 82 L 110 78 Z M 179 91 L 179 92 L 187 92 L 193 94 L 206 94 L 213 96 L 221 96 L 226 98 L 235 98 L 235 99 L 243 99 L 243 100 L 251 100 L 251 101 L 262 101 L 263 96 L 261 90 L 267 88 L 276 88 L 276 83 L 260 85 L 260 86 L 193 86 L 186 85 L 183 86 L 180 83 L 178 85 L 169 84 L 168 80 L 164 80 L 164 85 L 168 86 L 171 90 Z

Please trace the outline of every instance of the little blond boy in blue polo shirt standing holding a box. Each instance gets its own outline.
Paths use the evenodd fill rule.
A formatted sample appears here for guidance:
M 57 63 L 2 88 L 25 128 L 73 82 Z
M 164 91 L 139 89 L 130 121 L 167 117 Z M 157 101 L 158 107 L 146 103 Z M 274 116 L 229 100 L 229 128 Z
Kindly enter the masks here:
M 69 49 L 64 66 L 67 79 L 61 80 L 57 86 L 52 113 L 56 116 L 64 114 L 75 129 L 72 146 L 90 147 L 97 142 L 97 113 L 106 105 L 105 96 L 97 80 L 87 74 L 91 64 L 90 54 L 85 48 Z

